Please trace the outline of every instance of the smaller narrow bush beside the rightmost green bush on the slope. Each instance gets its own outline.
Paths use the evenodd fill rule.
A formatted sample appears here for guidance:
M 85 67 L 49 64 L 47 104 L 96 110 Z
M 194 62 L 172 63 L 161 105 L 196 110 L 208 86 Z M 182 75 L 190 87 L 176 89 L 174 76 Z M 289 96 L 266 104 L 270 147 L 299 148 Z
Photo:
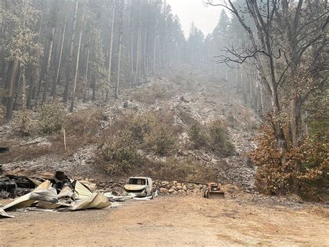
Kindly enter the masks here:
M 200 122 L 194 122 L 190 125 L 187 134 L 194 143 L 194 148 L 205 147 L 209 143 L 210 137 L 208 136 L 205 126 L 201 125 Z

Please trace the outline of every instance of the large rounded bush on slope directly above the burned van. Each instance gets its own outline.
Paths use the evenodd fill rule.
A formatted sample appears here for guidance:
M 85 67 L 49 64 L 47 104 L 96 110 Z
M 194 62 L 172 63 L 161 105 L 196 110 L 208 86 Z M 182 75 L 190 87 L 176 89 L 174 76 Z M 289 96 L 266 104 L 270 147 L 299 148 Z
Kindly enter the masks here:
M 128 173 L 142 158 L 137 142 L 126 130 L 109 136 L 108 141 L 101 143 L 99 155 L 108 163 L 106 169 L 112 174 Z

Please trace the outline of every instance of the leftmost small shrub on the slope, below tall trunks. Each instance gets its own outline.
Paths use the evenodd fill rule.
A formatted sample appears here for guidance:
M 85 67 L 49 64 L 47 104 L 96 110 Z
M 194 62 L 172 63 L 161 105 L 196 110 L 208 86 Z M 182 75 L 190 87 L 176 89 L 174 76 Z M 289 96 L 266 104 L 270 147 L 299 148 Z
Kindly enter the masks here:
M 23 110 L 15 114 L 12 120 L 12 126 L 17 129 L 22 136 L 31 136 L 35 130 L 35 122 L 33 122 L 33 111 Z

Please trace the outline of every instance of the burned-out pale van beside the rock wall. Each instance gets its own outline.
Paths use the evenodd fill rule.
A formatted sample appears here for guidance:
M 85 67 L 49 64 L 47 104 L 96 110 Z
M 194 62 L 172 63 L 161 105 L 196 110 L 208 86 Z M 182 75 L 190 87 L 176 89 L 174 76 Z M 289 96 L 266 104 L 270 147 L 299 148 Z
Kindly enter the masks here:
M 129 177 L 124 190 L 127 193 L 134 193 L 136 197 L 146 197 L 152 195 L 151 177 Z

